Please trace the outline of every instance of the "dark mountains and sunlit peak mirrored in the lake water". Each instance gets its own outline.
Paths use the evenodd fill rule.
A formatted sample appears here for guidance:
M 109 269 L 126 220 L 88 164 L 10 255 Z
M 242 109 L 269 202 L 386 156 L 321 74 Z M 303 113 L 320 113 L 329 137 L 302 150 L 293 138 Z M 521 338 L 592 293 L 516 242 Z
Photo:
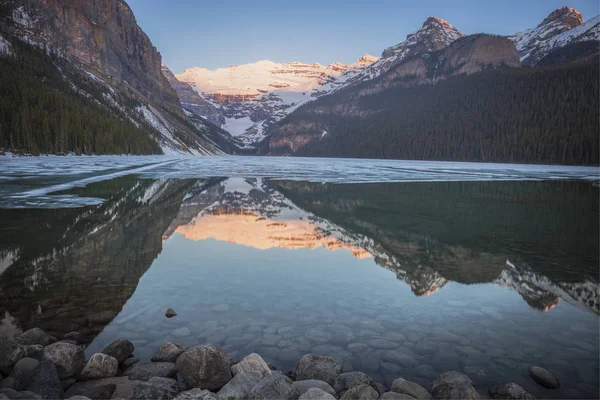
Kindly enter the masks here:
M 114 323 L 175 235 L 264 250 L 265 263 L 268 249 L 294 251 L 291 258 L 302 257 L 299 249 L 349 252 L 392 271 L 417 297 L 437 296 L 451 282 L 493 285 L 539 311 L 552 313 L 564 301 L 590 314 L 593 319 L 582 318 L 597 327 L 599 200 L 589 182 L 125 176 L 69 193 L 105 201 L 0 210 L 0 336 L 41 327 L 53 335 L 79 331 L 92 342 Z M 186 273 L 195 268 L 202 264 Z M 593 374 L 597 360 L 591 365 Z M 586 382 L 597 391 L 597 381 Z

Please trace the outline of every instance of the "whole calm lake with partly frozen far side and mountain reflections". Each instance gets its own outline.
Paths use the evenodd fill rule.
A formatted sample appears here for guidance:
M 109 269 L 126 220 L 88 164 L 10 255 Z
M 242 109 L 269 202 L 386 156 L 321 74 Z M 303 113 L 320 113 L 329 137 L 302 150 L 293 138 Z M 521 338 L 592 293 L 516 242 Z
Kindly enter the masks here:
M 305 353 L 391 386 L 599 397 L 594 167 L 0 157 L 0 336 Z M 174 318 L 165 310 L 173 308 Z M 537 385 L 539 365 L 561 380 Z

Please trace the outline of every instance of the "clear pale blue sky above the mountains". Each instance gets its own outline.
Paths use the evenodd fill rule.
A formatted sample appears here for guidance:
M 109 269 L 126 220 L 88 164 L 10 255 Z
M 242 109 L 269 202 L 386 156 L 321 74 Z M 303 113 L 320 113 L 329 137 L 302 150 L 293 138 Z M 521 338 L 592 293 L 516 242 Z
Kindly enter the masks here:
M 380 56 L 432 15 L 465 34 L 507 35 L 563 5 L 585 20 L 600 14 L 598 0 L 126 1 L 175 73 L 259 60 L 350 64 Z

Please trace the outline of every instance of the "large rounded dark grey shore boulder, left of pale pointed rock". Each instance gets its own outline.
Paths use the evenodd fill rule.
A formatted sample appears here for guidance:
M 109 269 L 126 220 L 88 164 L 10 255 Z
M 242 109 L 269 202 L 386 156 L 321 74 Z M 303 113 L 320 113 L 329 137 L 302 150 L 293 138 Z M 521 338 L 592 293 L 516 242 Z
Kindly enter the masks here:
M 232 378 L 229 357 L 218 346 L 193 346 L 177 359 L 177 370 L 188 387 L 219 390 Z

